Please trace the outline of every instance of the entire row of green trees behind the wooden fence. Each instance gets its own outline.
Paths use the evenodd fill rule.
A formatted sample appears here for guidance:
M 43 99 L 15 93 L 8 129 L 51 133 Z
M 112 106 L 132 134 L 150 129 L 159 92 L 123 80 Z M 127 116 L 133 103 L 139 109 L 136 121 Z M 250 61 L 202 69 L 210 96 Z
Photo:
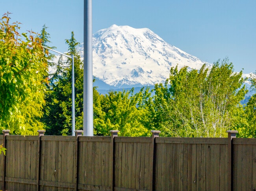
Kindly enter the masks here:
M 4 15 L 0 27 L 0 127 L 13 134 L 45 129 L 46 135 L 71 135 L 71 60 L 49 62 L 53 55 L 42 47 L 50 44 L 46 26 L 40 34 L 20 35 L 18 24 L 9 24 Z M 75 58 L 76 129 L 83 129 L 83 62 L 73 32 L 66 43 Z M 54 73 L 46 73 L 49 66 Z M 246 80 L 256 88 L 255 78 Z M 256 95 L 241 104 L 248 91 L 244 81 L 224 59 L 200 70 L 172 68 L 165 83 L 152 90 L 101 95 L 94 87 L 94 134 L 106 136 L 114 129 L 120 136 L 149 136 L 160 130 L 161 136 L 224 137 L 232 129 L 240 137 L 256 137 Z

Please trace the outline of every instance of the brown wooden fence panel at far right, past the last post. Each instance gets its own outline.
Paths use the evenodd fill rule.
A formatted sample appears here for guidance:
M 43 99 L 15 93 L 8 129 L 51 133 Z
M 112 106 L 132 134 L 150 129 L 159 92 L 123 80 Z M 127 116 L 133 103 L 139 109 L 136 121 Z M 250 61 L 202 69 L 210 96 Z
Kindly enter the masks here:
M 233 190 L 256 190 L 256 139 L 233 139 Z

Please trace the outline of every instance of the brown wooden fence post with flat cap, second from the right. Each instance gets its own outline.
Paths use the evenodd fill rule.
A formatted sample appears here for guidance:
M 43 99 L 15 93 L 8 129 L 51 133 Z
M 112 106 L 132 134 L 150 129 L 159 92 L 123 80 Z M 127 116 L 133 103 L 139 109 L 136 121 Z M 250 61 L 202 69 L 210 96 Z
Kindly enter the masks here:
M 150 147 L 150 161 L 149 161 L 149 166 L 150 166 L 150 191 L 155 190 L 155 176 L 154 176 L 154 172 L 155 172 L 155 137 L 159 137 L 159 133 L 161 133 L 161 131 L 156 131 L 156 130 L 152 130 L 152 137 L 151 137 L 151 147 Z

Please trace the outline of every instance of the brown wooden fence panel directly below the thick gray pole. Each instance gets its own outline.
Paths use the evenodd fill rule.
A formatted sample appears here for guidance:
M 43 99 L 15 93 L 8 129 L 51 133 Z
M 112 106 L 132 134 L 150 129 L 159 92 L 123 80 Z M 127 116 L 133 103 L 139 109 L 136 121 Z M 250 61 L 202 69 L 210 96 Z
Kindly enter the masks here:
M 78 139 L 78 190 L 110 191 L 112 185 L 111 137 Z

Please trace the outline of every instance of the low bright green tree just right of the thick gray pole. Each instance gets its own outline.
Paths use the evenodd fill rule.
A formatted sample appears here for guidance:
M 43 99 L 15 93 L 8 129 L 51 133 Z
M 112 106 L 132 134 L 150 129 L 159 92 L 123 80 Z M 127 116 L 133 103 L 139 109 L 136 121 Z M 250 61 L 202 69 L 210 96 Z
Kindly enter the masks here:
M 120 136 L 149 136 L 147 102 L 148 90 L 133 94 L 131 91 L 109 91 L 93 94 L 94 134 L 110 135 L 110 130 L 119 130 Z

